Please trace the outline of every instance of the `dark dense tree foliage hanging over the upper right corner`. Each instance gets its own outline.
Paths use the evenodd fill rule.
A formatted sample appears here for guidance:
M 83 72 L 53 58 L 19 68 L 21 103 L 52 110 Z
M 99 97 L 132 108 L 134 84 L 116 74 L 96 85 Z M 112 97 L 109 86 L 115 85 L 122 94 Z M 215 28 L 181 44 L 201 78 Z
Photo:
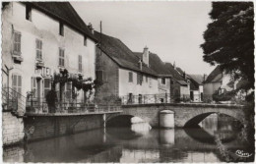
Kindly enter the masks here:
M 213 2 L 212 23 L 204 32 L 204 61 L 219 64 L 234 80 L 254 88 L 254 11 L 252 2 Z

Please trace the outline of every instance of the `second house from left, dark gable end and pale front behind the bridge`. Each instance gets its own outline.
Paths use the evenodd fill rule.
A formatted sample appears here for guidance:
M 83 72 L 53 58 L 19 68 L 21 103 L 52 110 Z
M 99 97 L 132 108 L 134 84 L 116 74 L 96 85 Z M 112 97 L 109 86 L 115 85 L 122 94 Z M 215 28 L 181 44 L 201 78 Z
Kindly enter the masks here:
M 96 97 L 99 102 L 118 100 L 122 103 L 158 102 L 158 74 L 148 67 L 120 39 L 95 31 L 99 46 L 96 48 Z M 144 61 L 149 51 L 144 50 Z M 119 99 L 120 100 L 120 99 Z

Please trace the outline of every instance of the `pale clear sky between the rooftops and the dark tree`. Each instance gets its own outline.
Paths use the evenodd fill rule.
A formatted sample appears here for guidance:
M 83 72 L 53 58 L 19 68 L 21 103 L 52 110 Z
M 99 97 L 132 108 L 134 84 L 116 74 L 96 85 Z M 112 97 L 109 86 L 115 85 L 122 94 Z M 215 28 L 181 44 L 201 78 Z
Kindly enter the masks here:
M 132 51 L 147 45 L 163 62 L 187 74 L 210 74 L 215 67 L 203 61 L 203 33 L 211 23 L 211 2 L 71 2 L 83 21 L 122 40 Z

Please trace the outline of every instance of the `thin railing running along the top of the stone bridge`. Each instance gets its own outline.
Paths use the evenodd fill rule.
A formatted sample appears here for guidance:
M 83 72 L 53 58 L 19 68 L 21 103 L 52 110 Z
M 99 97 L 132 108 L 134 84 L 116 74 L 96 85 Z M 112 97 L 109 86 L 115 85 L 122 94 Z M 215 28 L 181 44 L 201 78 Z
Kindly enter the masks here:
M 204 102 L 211 103 L 213 96 L 206 94 L 180 94 L 173 95 L 170 93 L 162 94 L 139 94 L 121 96 L 122 105 L 130 104 L 156 104 L 156 103 L 181 103 L 181 102 Z

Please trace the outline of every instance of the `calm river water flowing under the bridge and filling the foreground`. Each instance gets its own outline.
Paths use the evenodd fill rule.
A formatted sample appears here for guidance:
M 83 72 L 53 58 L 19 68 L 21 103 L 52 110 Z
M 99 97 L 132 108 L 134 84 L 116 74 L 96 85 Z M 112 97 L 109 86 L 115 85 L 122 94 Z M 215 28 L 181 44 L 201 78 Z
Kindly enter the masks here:
M 222 123 L 221 123 L 222 122 Z M 222 162 L 216 137 L 231 152 L 246 147 L 230 122 L 212 116 L 196 129 L 106 128 L 4 149 L 5 162 Z

